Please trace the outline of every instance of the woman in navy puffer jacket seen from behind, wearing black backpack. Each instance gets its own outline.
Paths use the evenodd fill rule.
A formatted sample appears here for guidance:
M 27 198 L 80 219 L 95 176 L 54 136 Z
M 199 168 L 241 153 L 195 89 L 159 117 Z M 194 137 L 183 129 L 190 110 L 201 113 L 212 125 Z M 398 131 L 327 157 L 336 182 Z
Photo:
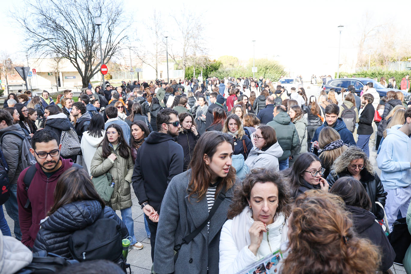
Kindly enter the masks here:
M 122 239 L 129 235 L 125 224 L 106 206 L 90 176 L 80 167 L 69 168 L 60 175 L 55 186 L 54 205 L 47 216 L 41 223 L 33 251 L 45 250 L 72 258 L 69 252 L 71 235 L 100 218 L 114 219 L 120 226 Z

